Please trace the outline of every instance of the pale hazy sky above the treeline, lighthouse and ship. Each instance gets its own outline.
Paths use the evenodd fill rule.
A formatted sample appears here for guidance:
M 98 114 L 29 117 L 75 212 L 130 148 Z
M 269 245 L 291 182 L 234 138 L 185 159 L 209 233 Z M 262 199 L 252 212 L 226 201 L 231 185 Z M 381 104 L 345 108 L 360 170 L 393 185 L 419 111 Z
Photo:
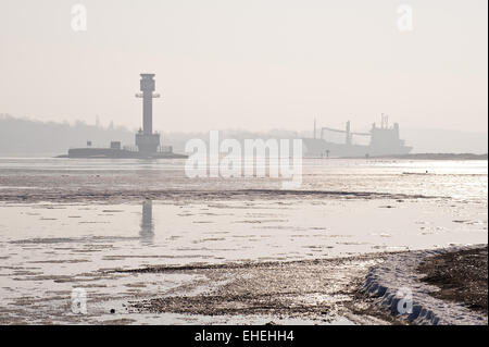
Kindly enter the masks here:
M 72 5 L 87 9 L 74 32 Z M 413 30 L 398 29 L 399 4 Z M 154 128 L 486 132 L 487 0 L 1 0 L 0 113 Z

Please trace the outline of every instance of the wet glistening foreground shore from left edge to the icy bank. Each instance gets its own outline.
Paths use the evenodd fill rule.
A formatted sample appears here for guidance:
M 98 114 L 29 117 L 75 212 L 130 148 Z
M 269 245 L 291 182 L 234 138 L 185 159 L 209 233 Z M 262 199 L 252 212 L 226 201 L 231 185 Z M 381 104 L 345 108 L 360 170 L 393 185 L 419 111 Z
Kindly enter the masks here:
M 77 285 L 89 293 L 87 314 L 71 313 L 68 293 L 62 290 L 41 299 L 18 298 L 10 309 L 0 308 L 0 323 L 401 323 L 358 295 L 368 269 L 383 262 L 384 257 L 374 253 L 293 262 L 106 269 L 85 274 L 86 283 Z M 166 290 L 161 287 L 149 290 L 149 282 L 168 278 L 179 280 Z M 67 284 L 82 281 L 71 276 L 38 276 L 37 280 Z M 100 292 L 102 282 L 114 281 L 124 281 L 128 292 L 112 295 Z

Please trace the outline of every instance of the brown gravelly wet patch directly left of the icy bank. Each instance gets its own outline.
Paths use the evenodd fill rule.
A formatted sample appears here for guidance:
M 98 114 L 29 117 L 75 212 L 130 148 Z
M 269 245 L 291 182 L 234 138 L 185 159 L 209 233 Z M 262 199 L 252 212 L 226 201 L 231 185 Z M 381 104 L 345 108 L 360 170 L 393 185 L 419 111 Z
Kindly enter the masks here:
M 334 322 L 337 317 L 353 322 L 376 322 L 374 317 L 355 317 L 349 306 L 366 270 L 381 261 L 381 255 L 330 260 L 265 262 L 216 267 L 149 267 L 130 273 L 180 273 L 203 275 L 221 283 L 199 295 L 166 295 L 131 301 L 139 311 L 203 315 L 253 315 L 301 318 Z M 192 288 L 188 288 L 191 290 Z

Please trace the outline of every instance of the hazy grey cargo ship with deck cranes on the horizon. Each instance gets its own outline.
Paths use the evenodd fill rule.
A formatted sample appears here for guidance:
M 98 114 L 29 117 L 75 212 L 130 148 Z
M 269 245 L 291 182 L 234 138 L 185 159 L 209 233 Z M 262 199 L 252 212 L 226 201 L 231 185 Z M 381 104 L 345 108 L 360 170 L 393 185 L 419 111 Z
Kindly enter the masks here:
M 375 123 L 368 133 L 351 132 L 351 123 L 347 122 L 344 129 L 321 127 L 317 137 L 316 123 L 314 121 L 314 135 L 312 138 L 303 138 L 304 157 L 314 158 L 364 158 L 381 156 L 402 156 L 411 152 L 412 147 L 405 145 L 400 138 L 399 124 L 389 126 L 388 116 L 383 114 L 380 126 Z M 342 142 L 328 139 L 327 134 L 341 134 Z M 368 144 L 356 144 L 356 138 L 363 137 Z

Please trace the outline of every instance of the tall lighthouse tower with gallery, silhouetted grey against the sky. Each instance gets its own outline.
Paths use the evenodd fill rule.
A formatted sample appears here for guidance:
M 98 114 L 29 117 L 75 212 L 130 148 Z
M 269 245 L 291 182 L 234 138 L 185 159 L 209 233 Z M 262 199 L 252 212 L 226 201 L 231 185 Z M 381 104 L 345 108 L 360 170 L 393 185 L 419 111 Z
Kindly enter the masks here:
M 160 146 L 160 134 L 153 133 L 153 98 L 159 98 L 159 94 L 154 94 L 154 74 L 141 74 L 140 90 L 136 95 L 142 98 L 142 129 L 136 134 L 136 146 L 140 152 L 155 153 Z

